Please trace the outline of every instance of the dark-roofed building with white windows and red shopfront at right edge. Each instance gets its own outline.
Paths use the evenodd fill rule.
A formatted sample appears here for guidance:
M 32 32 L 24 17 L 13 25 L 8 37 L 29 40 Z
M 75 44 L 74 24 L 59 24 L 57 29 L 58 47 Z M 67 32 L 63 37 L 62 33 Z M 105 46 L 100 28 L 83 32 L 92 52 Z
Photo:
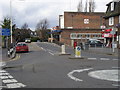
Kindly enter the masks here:
M 106 6 L 107 10 L 104 18 L 107 32 L 104 33 L 104 36 L 110 44 L 113 40 L 113 35 L 111 35 L 110 32 L 111 30 L 114 30 L 116 32 L 114 35 L 114 40 L 115 43 L 119 44 L 118 47 L 120 48 L 120 0 L 113 0 Z

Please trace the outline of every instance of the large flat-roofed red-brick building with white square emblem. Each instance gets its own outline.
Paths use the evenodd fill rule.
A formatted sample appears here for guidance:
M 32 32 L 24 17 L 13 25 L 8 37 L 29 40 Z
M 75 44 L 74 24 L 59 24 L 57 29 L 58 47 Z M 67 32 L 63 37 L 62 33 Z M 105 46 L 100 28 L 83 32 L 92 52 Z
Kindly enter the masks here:
M 102 12 L 64 12 L 59 16 L 59 26 L 62 30 L 60 41 L 73 46 L 75 41 L 86 42 L 89 39 L 100 39 L 103 26 Z

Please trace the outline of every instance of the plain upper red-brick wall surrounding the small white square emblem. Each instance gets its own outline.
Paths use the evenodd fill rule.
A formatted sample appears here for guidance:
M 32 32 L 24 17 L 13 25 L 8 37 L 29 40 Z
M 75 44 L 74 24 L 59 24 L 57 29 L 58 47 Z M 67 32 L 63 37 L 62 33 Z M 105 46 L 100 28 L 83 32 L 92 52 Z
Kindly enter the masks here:
M 103 24 L 104 13 L 79 13 L 65 12 L 64 26 L 73 28 L 100 28 Z M 89 19 L 89 24 L 84 24 L 84 19 Z

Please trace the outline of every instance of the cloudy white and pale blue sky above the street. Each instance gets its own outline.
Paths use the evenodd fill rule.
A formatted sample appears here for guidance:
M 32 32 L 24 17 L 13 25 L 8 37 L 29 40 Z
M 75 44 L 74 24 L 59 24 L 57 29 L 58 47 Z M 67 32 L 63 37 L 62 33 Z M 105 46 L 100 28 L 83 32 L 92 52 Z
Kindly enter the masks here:
M 84 2 L 83 0 L 83 6 Z M 111 0 L 94 0 L 95 12 L 106 12 Z M 27 23 L 33 31 L 37 23 L 47 19 L 49 28 L 59 25 L 59 15 L 65 11 L 76 12 L 80 0 L 11 0 L 13 22 L 18 28 Z M 10 17 L 10 0 L 0 0 L 0 22 L 4 17 Z

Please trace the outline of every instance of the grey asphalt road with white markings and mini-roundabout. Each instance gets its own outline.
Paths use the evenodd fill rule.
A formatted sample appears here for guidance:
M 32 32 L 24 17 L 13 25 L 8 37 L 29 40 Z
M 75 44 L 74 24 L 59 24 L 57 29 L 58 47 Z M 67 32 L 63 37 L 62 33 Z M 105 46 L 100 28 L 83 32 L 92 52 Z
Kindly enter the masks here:
M 74 57 L 74 50 L 53 43 L 30 43 L 29 53 L 7 62 L 1 71 L 3 86 L 7 88 L 118 88 L 118 57 L 82 52 L 83 59 Z M 6 77 L 5 77 L 6 76 Z M 111 79 L 112 78 L 112 79 Z M 92 83 L 91 83 L 92 82 Z

